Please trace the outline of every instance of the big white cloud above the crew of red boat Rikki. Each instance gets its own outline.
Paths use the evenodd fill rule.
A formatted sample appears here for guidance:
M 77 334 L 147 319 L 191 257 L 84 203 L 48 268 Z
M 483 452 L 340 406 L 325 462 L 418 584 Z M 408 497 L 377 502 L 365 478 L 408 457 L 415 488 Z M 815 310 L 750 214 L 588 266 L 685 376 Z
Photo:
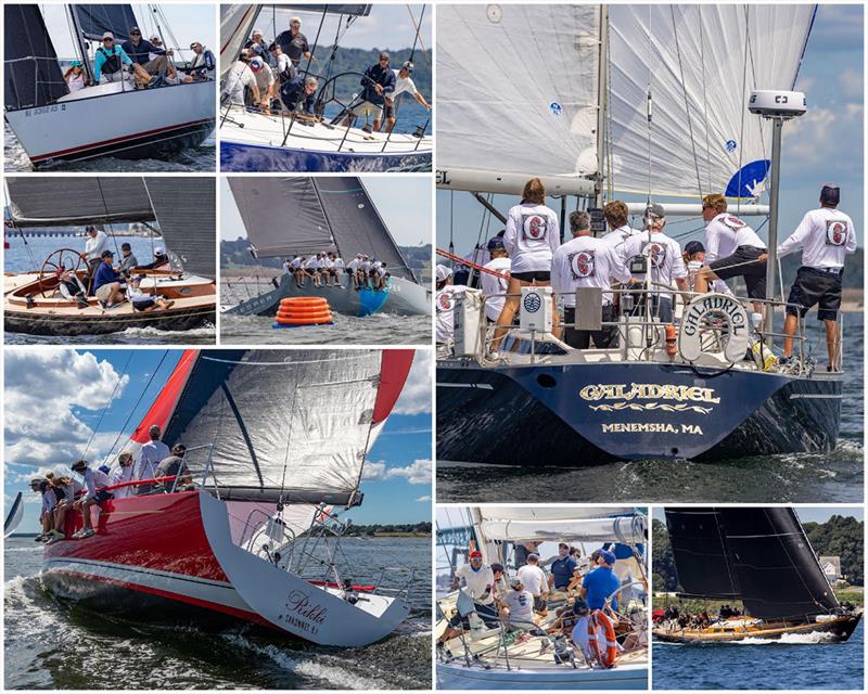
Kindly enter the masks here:
M 122 377 L 108 361 L 99 361 L 91 352 L 71 349 L 9 349 L 4 376 L 9 463 L 53 467 L 81 455 L 91 437 L 89 458 L 107 452 L 116 433 L 94 436 L 76 411 L 107 407 L 123 395 L 129 376 Z

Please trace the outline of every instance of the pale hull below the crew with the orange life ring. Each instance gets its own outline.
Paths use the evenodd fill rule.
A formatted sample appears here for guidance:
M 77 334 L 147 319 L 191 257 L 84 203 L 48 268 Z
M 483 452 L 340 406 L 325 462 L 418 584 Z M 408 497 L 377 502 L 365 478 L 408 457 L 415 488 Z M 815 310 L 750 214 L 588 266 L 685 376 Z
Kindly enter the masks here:
M 648 666 L 623 665 L 608 670 L 564 667 L 487 668 L 485 665 L 437 664 L 442 690 L 647 690 Z

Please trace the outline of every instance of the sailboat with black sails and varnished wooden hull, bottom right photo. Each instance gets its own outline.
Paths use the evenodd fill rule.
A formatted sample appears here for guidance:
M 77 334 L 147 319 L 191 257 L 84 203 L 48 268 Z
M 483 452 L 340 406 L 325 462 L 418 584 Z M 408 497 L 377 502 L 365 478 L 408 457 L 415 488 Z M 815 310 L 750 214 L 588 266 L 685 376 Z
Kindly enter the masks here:
M 744 615 L 699 626 L 664 620 L 655 639 L 726 643 L 821 633 L 846 641 L 855 631 L 861 609 L 839 602 L 794 509 L 665 511 L 681 596 L 741 601 Z

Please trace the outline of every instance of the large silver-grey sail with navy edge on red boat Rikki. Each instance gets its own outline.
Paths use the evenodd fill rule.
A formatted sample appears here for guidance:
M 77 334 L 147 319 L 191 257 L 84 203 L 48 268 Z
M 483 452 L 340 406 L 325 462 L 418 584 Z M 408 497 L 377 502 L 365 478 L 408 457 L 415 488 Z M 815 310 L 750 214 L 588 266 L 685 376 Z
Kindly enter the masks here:
M 388 350 L 203 350 L 184 378 L 163 440 L 197 448 L 226 499 L 358 503 L 381 383 L 403 374 Z M 397 376 L 400 378 L 397 378 Z M 394 404 L 394 402 L 393 402 Z M 203 452 L 204 451 L 204 452 Z

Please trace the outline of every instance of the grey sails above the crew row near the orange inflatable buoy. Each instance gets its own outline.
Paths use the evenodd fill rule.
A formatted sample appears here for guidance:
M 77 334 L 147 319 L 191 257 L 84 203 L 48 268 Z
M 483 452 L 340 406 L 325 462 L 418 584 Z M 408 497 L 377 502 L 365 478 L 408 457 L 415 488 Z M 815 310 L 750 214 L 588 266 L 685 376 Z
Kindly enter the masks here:
M 229 187 L 258 258 L 365 253 L 417 281 L 358 177 L 230 177 Z

